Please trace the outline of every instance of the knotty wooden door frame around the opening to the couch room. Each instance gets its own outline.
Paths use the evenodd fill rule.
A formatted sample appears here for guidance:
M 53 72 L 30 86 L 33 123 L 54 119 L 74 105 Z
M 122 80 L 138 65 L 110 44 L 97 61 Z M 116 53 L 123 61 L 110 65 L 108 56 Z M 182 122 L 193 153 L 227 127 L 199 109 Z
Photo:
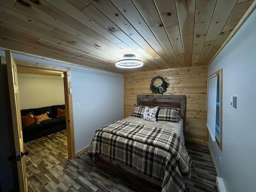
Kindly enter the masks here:
M 66 130 L 67 130 L 67 144 L 68 144 L 68 158 L 73 159 L 75 154 L 75 138 L 74 138 L 74 118 L 73 118 L 73 104 L 72 104 L 72 84 L 71 84 L 71 69 L 50 64 L 31 62 L 26 60 L 15 59 L 17 66 L 25 66 L 28 68 L 52 70 L 63 72 L 64 74 L 64 96 L 66 109 Z M 36 73 L 35 73 L 36 74 Z

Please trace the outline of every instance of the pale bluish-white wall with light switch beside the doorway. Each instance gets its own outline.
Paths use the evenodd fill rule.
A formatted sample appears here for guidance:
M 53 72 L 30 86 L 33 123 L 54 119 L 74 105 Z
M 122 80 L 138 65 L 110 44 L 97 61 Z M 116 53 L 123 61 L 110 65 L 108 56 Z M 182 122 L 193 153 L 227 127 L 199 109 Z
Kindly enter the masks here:
M 0 51 L 0 56 L 5 56 Z M 124 76 L 59 62 L 12 54 L 15 59 L 71 68 L 76 152 L 90 145 L 95 131 L 124 118 Z M 80 108 L 76 108 L 76 103 Z

